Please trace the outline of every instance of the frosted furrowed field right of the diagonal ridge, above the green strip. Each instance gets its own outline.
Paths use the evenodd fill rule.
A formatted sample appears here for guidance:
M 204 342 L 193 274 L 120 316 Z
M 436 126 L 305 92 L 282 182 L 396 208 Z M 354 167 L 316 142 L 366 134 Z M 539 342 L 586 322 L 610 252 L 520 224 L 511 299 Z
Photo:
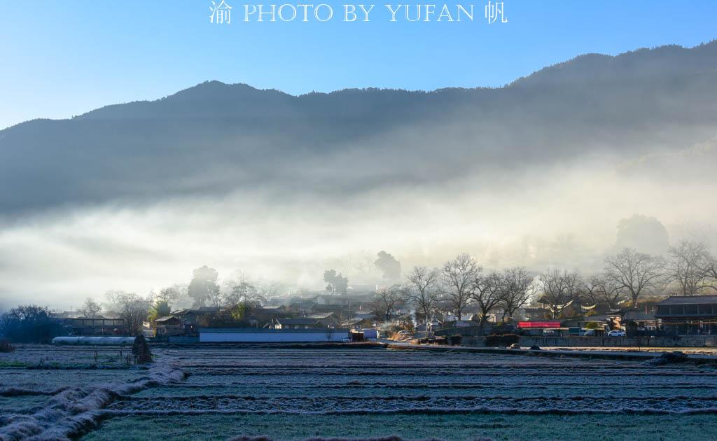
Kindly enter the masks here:
M 122 397 L 105 414 L 717 413 L 717 372 L 693 365 L 209 346 L 177 356 L 184 384 Z

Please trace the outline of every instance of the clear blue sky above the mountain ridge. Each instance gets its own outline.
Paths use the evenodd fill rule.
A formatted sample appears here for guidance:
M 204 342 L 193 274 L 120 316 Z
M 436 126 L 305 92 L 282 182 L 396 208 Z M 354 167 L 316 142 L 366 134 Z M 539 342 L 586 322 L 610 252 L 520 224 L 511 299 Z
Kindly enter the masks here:
M 369 23 L 341 22 L 349 1 L 327 1 L 337 11 L 331 22 L 245 23 L 237 13 L 252 2 L 227 2 L 232 24 L 217 26 L 209 0 L 0 1 L 0 128 L 161 98 L 204 80 L 293 94 L 500 86 L 586 52 L 717 38 L 713 0 L 504 0 L 508 23 L 491 25 L 483 1 L 473 2 L 475 22 L 461 23 L 391 23 L 385 2 Z

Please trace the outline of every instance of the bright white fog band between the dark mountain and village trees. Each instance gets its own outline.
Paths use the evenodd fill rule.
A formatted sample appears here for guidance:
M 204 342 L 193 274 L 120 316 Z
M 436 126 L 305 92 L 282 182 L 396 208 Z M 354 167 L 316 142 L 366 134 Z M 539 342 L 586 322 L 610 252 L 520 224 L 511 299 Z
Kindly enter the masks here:
M 717 239 L 707 173 L 713 143 L 704 146 L 634 161 L 585 156 L 552 166 L 493 167 L 438 184 L 391 183 L 386 174 L 357 172 L 368 167 L 344 169 L 384 181 L 338 199 L 297 191 L 277 204 L 286 187 L 267 183 L 221 196 L 44 212 L 0 229 L 0 308 L 31 301 L 68 308 L 110 289 L 148 293 L 188 282 L 201 265 L 216 267 L 220 277 L 242 270 L 292 289 L 322 289 L 328 268 L 348 275 L 350 285 L 371 285 L 380 279 L 371 266 L 379 250 L 404 268 L 471 252 L 490 267 L 590 272 L 614 252 L 619 220 L 633 214 L 657 217 L 671 241 Z M 366 160 L 348 155 L 336 163 Z M 333 165 L 296 169 L 317 176 Z

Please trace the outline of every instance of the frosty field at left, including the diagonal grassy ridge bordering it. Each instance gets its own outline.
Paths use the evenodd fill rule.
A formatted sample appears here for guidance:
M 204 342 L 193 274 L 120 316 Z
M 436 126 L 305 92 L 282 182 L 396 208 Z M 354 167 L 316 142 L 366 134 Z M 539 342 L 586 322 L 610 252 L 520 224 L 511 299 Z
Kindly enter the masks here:
M 0 440 L 58 440 L 98 427 L 119 397 L 178 382 L 184 374 L 158 354 L 130 366 L 129 348 L 20 346 L 0 354 Z

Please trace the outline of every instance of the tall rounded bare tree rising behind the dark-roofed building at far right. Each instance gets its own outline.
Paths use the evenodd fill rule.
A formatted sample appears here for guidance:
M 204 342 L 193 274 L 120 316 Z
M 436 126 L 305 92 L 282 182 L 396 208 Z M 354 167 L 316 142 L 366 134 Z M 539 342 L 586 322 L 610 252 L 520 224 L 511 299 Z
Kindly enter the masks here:
M 703 242 L 680 240 L 677 246 L 668 249 L 665 265 L 667 283 L 680 287 L 682 295 L 696 295 L 708 278 L 710 253 Z

